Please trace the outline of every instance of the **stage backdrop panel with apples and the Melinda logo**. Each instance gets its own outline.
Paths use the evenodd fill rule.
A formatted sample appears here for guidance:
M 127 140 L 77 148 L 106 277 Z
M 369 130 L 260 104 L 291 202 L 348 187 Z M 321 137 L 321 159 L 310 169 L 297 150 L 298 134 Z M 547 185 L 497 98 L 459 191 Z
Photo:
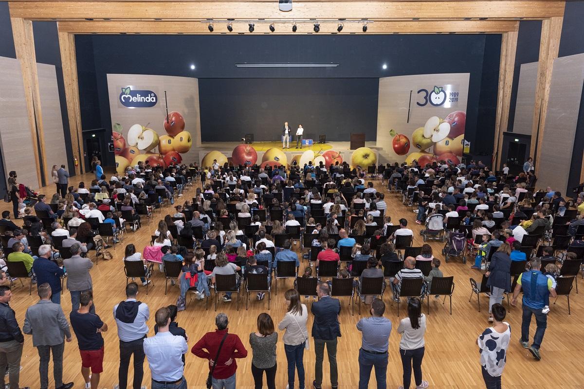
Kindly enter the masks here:
M 119 171 L 146 159 L 152 165 L 198 162 L 198 153 L 189 153 L 201 143 L 196 78 L 108 74 L 107 89 Z

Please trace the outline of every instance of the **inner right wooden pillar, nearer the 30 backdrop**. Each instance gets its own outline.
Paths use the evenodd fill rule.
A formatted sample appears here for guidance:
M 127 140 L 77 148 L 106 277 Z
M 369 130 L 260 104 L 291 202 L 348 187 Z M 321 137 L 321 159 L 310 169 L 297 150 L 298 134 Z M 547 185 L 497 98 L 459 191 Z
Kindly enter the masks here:
M 497 93 L 497 115 L 495 120 L 495 144 L 493 145 L 493 169 L 501 167 L 501 149 L 503 132 L 509 124 L 509 106 L 515 70 L 515 53 L 517 51 L 517 31 L 503 34 L 501 40 L 501 60 L 499 64 L 499 89 Z

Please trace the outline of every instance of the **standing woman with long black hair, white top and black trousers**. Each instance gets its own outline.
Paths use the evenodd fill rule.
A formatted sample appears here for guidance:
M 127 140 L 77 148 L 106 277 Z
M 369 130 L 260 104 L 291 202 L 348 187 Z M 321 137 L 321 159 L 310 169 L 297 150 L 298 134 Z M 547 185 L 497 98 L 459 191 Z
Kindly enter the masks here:
M 408 317 L 399 322 L 398 334 L 402 335 L 399 341 L 399 356 L 404 367 L 404 385 L 398 389 L 408 389 L 413 377 L 416 389 L 428 387 L 428 381 L 422 381 L 422 359 L 424 358 L 426 333 L 426 315 L 422 313 L 422 303 L 418 297 L 412 297 L 408 302 Z

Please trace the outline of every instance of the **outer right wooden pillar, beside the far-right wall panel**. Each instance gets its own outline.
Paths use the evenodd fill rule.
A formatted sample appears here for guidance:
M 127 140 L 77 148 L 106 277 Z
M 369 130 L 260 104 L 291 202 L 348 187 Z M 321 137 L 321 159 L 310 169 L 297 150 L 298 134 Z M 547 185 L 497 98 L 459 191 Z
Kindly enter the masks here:
M 537 157 L 540 155 L 541 139 L 545 127 L 548 99 L 550 97 L 551 72 L 554 59 L 558 58 L 559 38 L 562 34 L 564 17 L 551 17 L 541 22 L 540 57 L 537 65 L 536 101 L 533 110 L 531 127 L 530 155 L 536 165 L 536 176 L 540 165 Z

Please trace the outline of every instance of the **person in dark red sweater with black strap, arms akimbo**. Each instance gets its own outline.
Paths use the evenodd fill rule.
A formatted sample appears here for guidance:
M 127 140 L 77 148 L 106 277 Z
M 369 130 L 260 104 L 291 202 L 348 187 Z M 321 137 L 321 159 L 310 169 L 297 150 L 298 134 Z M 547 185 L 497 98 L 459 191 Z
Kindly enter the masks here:
M 217 330 L 204 334 L 191 349 L 194 355 L 209 360 L 213 389 L 235 389 L 237 370 L 235 359 L 248 356 L 241 339 L 235 334 L 228 333 L 228 324 L 227 315 L 218 314 L 215 317 Z

